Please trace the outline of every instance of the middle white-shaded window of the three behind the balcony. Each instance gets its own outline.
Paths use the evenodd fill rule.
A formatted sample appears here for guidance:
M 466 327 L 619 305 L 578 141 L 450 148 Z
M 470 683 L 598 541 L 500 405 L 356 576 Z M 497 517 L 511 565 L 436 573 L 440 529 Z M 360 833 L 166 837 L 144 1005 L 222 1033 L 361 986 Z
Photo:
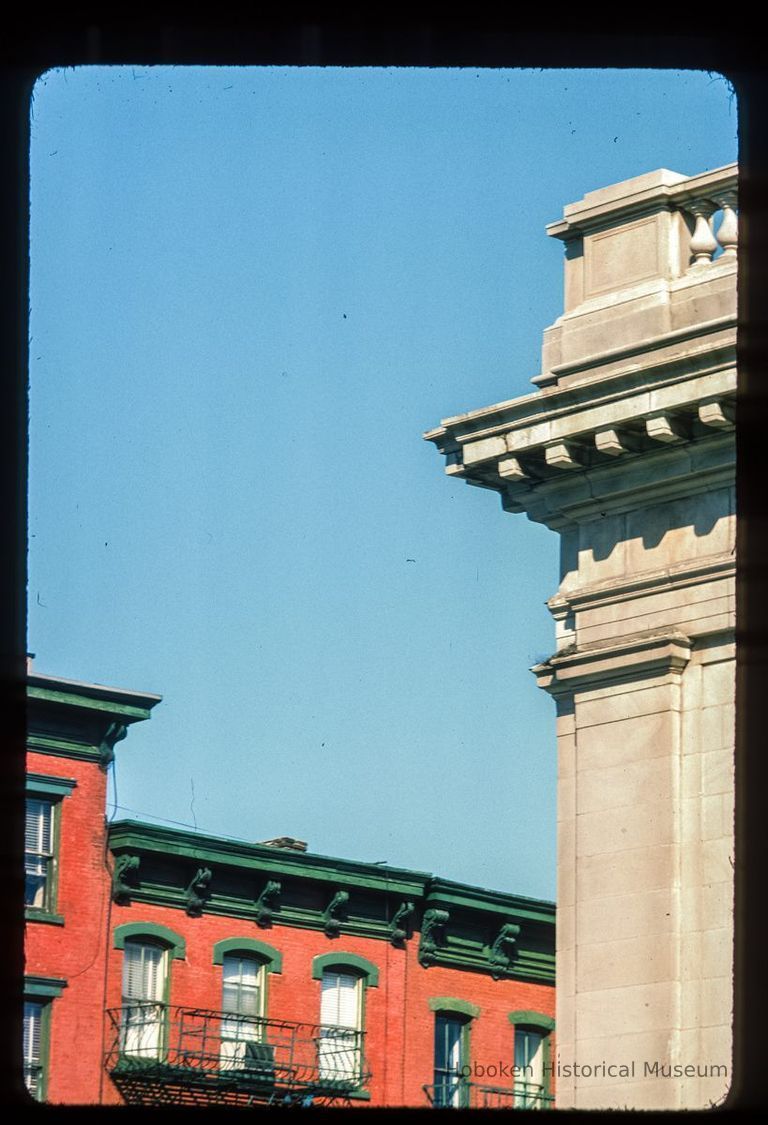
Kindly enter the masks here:
M 255 1061 L 249 1044 L 263 1041 L 265 965 L 247 954 L 227 953 L 222 976 L 220 1065 L 234 1070 Z

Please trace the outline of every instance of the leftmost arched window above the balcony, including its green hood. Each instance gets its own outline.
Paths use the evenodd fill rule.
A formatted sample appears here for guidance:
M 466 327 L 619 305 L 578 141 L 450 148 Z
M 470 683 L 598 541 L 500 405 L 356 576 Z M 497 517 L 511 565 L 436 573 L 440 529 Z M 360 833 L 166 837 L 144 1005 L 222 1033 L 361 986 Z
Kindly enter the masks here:
M 115 930 L 123 950 L 120 1054 L 162 1059 L 168 1034 L 170 963 L 183 957 L 184 939 L 154 922 L 128 922 Z

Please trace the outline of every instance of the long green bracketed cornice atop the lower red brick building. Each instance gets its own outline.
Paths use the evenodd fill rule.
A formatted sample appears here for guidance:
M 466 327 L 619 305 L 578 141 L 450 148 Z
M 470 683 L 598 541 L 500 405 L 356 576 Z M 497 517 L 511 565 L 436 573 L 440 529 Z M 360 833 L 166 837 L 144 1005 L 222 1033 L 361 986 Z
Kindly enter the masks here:
M 183 911 L 190 876 L 210 872 L 198 903 L 205 914 L 242 919 L 254 929 L 325 933 L 329 942 L 370 937 L 400 951 L 414 936 L 425 969 L 554 982 L 552 902 L 160 825 L 124 820 L 108 831 L 126 874 L 133 857 L 141 860 L 141 880 L 127 888 L 135 906 Z

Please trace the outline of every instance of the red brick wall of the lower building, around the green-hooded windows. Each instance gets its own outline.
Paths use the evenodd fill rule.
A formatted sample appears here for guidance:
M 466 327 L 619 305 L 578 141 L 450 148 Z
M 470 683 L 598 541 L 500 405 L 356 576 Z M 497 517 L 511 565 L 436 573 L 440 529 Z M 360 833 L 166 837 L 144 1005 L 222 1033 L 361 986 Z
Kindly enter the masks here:
M 320 982 L 311 979 L 311 961 L 318 954 L 356 953 L 371 961 L 379 969 L 378 988 L 365 992 L 365 1059 L 373 1076 L 372 1106 L 426 1105 L 422 1087 L 433 1081 L 435 1017 L 428 1006 L 431 997 L 454 997 L 480 1007 L 480 1016 L 472 1022 L 470 1059 L 484 1064 L 497 1064 L 502 1059 L 512 1065 L 511 1011 L 531 1009 L 554 1017 L 551 986 L 494 981 L 485 973 L 443 966 L 424 969 L 417 961 L 418 935 L 404 951 L 374 938 L 328 938 L 317 930 L 284 926 L 262 929 L 253 922 L 213 915 L 190 918 L 169 907 L 112 907 L 112 932 L 136 921 L 166 926 L 186 938 L 186 958 L 171 962 L 171 1004 L 181 1007 L 220 1009 L 222 968 L 213 964 L 213 947 L 223 938 L 252 937 L 282 953 L 282 973 L 269 974 L 268 1016 L 273 1019 L 319 1022 Z M 108 1007 L 120 1005 L 121 973 L 123 953 L 110 948 Z M 109 1084 L 105 1100 L 119 1101 Z M 511 1086 L 512 1081 L 496 1079 L 490 1084 Z

